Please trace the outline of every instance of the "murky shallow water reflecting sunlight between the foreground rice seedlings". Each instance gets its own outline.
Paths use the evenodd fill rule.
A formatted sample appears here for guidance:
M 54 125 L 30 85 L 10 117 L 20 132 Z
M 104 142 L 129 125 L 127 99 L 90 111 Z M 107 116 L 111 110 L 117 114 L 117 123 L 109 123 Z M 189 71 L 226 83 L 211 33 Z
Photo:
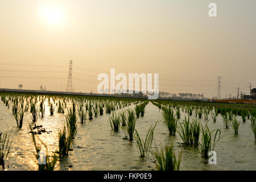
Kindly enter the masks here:
M 129 106 L 131 108 L 134 105 Z M 127 109 L 126 107 L 124 109 Z M 117 110 L 119 112 L 120 110 Z M 182 122 L 187 114 L 181 113 Z M 149 103 L 146 106 L 144 117 L 137 119 L 136 129 L 142 138 L 145 137 L 147 130 L 161 117 L 158 107 Z M 191 117 L 195 118 L 195 117 Z M 242 121 L 241 117 L 237 117 Z M 250 129 L 250 121 L 241 123 L 239 135 L 234 136 L 233 130 L 224 129 L 222 117 L 218 115 L 217 122 L 210 121 L 208 126 L 210 130 L 220 129 L 221 140 L 217 143 L 214 151 L 217 152 L 217 165 L 203 163 L 198 148 L 183 148 L 181 159 L 181 170 L 256 170 L 256 144 L 254 135 Z M 13 131 L 14 141 L 10 150 L 9 158 L 6 164 L 9 170 L 36 170 L 38 168 L 35 158 L 35 147 L 32 143 L 29 124 L 31 123 L 31 114 L 26 113 L 21 130 L 16 128 L 15 119 L 3 103 L 0 103 L 0 131 Z M 65 117 L 63 114 L 49 114 L 49 107 L 46 104 L 46 117 L 36 125 L 43 125 L 47 133 L 36 135 L 48 147 L 48 151 L 57 151 L 58 148 L 58 130 L 63 129 Z M 205 125 L 204 118 L 201 123 Z M 114 133 L 110 129 L 109 114 L 93 118 L 86 124 L 77 125 L 77 135 L 73 143 L 73 151 L 69 156 L 56 164 L 58 170 L 152 170 L 155 168 L 155 160 L 150 154 L 145 159 L 141 159 L 138 154 L 136 142 L 130 142 L 124 139 L 125 133 L 121 129 Z M 154 142 L 152 150 L 155 147 L 163 147 L 166 144 L 174 144 L 175 152 L 178 154 L 182 140 L 179 135 L 170 137 L 168 130 L 162 122 L 159 122 L 154 132 Z

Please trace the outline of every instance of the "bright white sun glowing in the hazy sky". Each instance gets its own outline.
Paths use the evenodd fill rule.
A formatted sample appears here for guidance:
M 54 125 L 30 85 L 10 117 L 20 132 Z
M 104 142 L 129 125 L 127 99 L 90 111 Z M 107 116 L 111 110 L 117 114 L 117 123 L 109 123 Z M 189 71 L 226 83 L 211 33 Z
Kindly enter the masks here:
M 47 23 L 51 25 L 58 25 L 63 23 L 64 15 L 59 6 L 39 3 L 38 7 L 39 16 L 43 18 Z

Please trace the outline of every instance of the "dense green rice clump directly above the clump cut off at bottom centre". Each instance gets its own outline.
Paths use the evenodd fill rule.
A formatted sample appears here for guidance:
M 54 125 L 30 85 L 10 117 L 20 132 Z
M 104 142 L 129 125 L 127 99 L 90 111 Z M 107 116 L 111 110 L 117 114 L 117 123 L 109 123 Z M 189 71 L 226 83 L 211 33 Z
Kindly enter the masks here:
M 169 130 L 170 135 L 175 136 L 177 130 L 177 119 L 171 107 L 163 107 L 162 121 Z

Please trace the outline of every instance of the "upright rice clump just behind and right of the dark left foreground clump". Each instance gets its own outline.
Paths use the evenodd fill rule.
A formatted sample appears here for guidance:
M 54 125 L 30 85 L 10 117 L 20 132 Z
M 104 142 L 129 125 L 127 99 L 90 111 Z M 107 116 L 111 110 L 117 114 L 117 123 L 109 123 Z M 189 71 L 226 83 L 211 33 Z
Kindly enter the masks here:
M 68 110 L 68 115 L 66 115 L 67 121 L 67 129 L 69 131 L 69 137 L 75 139 L 77 133 L 77 125 L 76 125 L 76 111 L 71 108 Z

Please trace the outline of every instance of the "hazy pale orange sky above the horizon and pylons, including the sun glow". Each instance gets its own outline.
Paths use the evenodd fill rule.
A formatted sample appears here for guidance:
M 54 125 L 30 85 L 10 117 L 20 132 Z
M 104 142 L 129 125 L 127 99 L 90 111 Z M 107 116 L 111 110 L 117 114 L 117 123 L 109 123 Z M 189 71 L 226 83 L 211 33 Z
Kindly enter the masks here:
M 208 16 L 210 2 L 217 17 Z M 159 89 L 256 86 L 256 1 L 0 0 L 0 88 L 97 92 L 97 75 L 159 73 Z

